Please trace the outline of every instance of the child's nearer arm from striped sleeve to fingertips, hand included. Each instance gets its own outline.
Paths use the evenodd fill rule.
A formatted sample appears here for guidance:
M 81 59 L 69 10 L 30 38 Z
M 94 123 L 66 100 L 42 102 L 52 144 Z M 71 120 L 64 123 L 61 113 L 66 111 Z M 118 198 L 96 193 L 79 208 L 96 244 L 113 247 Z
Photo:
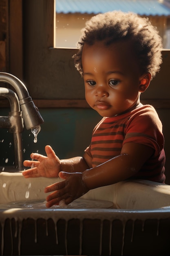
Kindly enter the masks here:
M 65 180 L 46 187 L 46 193 L 52 192 L 46 198 L 46 207 L 59 204 L 61 200 L 69 204 L 90 189 L 126 180 L 138 172 L 153 153 L 154 149 L 149 146 L 129 142 L 124 144 L 120 155 L 95 168 L 83 173 L 60 172 L 59 176 Z M 84 159 L 88 162 L 86 153 Z

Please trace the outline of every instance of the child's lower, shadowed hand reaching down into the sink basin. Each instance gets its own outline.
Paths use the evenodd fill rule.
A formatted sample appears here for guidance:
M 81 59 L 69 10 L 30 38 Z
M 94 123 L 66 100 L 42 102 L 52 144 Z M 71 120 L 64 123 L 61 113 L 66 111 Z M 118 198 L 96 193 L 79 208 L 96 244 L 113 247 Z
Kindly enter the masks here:
M 59 205 L 61 200 L 65 204 L 70 204 L 89 190 L 84 184 L 82 173 L 66 173 L 61 171 L 59 177 L 64 179 L 64 181 L 47 186 L 44 190 L 45 193 L 54 191 L 46 197 L 46 207 L 48 208 L 53 205 Z

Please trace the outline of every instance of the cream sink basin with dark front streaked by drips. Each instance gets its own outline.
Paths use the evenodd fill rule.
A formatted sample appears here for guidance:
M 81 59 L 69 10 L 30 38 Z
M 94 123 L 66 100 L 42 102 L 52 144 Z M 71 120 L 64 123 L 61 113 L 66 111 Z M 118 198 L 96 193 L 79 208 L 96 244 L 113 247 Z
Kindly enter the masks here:
M 169 254 L 169 185 L 119 182 L 89 191 L 76 209 L 73 204 L 46 209 L 44 187 L 57 181 L 25 179 L 20 172 L 0 173 L 2 255 Z M 85 208 L 86 200 L 92 200 L 93 208 Z M 93 200 L 104 202 L 95 208 Z M 11 208 L 13 201 L 20 201 L 19 208 Z M 23 209 L 23 202 L 30 208 Z M 117 209 L 108 208 L 112 205 Z

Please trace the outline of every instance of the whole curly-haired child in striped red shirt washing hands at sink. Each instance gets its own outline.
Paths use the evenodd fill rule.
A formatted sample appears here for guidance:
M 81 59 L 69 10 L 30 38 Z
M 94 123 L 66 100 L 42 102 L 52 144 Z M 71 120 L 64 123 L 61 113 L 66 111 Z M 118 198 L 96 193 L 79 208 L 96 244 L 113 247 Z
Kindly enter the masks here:
M 46 207 L 66 204 L 91 189 L 127 179 L 165 182 L 164 138 L 156 110 L 140 103 L 160 69 L 162 43 L 147 18 L 111 11 L 86 22 L 73 56 L 88 104 L 103 118 L 83 156 L 60 160 L 51 146 L 24 177 L 61 177 L 45 188 Z

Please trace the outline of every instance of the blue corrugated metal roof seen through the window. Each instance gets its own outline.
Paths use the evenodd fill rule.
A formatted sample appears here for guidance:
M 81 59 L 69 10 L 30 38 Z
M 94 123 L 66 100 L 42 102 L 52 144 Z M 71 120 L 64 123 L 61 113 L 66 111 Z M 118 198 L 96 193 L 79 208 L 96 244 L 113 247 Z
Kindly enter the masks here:
M 170 16 L 170 8 L 160 0 L 56 0 L 57 13 L 104 13 L 132 11 L 146 16 Z

